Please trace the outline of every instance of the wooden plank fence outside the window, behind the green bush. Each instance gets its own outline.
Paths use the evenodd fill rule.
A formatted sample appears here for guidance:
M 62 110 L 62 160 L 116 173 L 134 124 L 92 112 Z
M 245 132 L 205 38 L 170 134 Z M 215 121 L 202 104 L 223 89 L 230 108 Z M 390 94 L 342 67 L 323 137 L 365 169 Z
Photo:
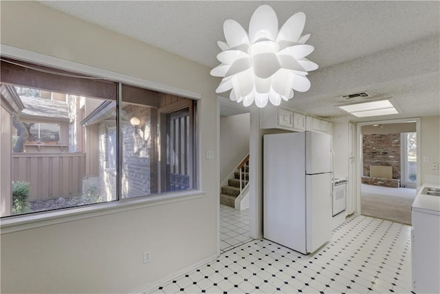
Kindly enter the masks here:
M 12 180 L 30 182 L 30 200 L 81 193 L 85 153 L 12 154 Z

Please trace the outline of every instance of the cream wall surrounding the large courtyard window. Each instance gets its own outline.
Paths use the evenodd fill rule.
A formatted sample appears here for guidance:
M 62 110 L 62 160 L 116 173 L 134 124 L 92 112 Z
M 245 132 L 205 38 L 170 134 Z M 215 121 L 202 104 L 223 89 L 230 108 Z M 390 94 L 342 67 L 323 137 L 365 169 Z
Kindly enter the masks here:
M 1 43 L 201 94 L 199 152 L 217 152 L 208 67 L 32 1 L 1 1 Z M 2 233 L 1 292 L 126 293 L 216 255 L 218 162 L 199 158 L 199 198 Z

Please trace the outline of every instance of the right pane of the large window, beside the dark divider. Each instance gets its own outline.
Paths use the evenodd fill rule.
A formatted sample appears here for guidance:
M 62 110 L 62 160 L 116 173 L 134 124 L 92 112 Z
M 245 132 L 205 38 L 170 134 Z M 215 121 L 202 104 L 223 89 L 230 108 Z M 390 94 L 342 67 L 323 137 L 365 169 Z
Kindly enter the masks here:
M 181 113 L 185 123 L 174 130 L 170 144 L 170 124 L 177 126 L 174 116 Z M 122 198 L 196 187 L 194 114 L 190 99 L 122 85 Z M 171 168 L 170 162 L 182 162 L 182 168 Z

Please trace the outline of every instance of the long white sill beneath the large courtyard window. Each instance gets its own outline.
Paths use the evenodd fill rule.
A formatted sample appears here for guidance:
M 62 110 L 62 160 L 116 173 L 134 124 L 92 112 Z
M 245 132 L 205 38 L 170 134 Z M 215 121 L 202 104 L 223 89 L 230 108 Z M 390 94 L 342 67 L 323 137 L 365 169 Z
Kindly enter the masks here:
M 201 198 L 203 195 L 205 195 L 205 192 L 203 191 L 191 190 L 180 193 L 166 193 L 157 196 L 149 196 L 148 198 L 124 199 L 102 204 L 91 204 L 87 207 L 33 213 L 25 216 L 11 216 L 10 218 L 0 220 L 0 232 L 1 235 L 14 233 L 17 231 L 46 227 L 52 224 L 61 224 L 63 222 L 105 216 L 112 213 L 120 213 L 122 211 L 130 211 L 133 209 Z

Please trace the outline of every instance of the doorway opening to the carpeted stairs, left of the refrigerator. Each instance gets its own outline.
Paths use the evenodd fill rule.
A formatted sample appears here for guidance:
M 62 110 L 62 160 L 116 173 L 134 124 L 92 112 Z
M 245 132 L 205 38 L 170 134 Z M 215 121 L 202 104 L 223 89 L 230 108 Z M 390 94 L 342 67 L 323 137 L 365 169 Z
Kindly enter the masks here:
M 219 98 L 219 251 L 250 238 L 250 109 Z M 247 158 L 247 159 L 246 159 Z M 241 163 L 245 167 L 238 169 Z M 247 193 L 247 194 L 246 194 Z

